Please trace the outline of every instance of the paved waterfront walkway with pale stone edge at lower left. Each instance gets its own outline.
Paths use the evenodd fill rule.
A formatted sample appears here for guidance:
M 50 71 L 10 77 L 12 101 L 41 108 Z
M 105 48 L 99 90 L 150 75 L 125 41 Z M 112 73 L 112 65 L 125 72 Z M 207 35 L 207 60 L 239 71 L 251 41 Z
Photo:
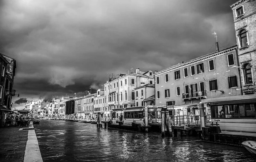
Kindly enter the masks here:
M 0 162 L 43 162 L 32 122 L 0 128 Z

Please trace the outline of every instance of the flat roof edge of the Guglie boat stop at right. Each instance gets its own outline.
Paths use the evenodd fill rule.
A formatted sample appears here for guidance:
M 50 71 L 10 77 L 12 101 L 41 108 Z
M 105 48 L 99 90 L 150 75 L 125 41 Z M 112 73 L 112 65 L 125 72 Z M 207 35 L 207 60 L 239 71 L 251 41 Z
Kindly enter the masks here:
M 222 98 L 208 98 L 202 99 L 202 103 L 210 103 L 210 105 L 223 104 L 239 104 L 239 103 L 256 103 L 256 95 L 238 95 Z

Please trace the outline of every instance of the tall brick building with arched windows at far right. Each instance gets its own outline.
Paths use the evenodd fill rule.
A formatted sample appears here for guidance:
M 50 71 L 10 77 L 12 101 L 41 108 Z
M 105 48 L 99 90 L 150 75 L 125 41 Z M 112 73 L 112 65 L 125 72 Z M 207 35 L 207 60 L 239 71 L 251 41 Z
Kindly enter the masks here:
M 239 0 L 233 10 L 243 94 L 256 94 L 256 1 Z

